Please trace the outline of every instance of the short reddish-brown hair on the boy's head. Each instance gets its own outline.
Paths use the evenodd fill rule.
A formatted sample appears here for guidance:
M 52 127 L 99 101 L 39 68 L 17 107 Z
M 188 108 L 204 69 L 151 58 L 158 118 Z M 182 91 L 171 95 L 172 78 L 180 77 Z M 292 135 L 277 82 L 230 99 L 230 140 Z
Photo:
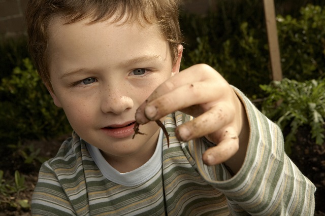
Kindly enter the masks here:
M 44 84 L 53 91 L 48 71 L 48 28 L 55 17 L 64 24 L 91 18 L 91 23 L 107 20 L 139 24 L 157 23 L 161 34 L 170 44 L 173 64 L 177 60 L 177 46 L 181 43 L 178 22 L 179 0 L 29 0 L 26 8 L 28 48 Z

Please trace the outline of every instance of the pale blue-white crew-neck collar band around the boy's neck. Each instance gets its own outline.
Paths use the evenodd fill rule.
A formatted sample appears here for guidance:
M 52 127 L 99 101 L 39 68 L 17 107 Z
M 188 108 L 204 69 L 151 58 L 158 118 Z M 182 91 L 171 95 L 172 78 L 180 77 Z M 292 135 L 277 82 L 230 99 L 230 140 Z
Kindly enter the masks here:
M 163 134 L 163 130 L 160 129 L 156 150 L 152 157 L 141 167 L 125 173 L 120 173 L 114 169 L 105 160 L 98 148 L 87 142 L 86 146 L 95 164 L 108 180 L 116 184 L 132 187 L 145 183 L 161 168 L 161 165 L 163 164 Z

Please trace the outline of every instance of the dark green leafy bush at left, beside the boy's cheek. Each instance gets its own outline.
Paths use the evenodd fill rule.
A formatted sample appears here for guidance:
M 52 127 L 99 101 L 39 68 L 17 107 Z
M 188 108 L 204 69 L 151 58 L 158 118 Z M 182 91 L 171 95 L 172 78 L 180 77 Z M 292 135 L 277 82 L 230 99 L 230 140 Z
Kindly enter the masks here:
M 67 134 L 70 125 L 56 107 L 28 58 L 0 86 L 0 137 L 17 143 L 22 139 L 44 139 Z

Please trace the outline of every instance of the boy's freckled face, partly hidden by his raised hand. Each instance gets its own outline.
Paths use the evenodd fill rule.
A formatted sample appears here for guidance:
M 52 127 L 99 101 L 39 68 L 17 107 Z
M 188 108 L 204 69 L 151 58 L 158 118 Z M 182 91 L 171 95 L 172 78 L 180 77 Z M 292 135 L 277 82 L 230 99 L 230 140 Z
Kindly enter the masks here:
M 156 25 L 82 20 L 49 29 L 49 71 L 54 103 L 73 129 L 112 159 L 152 154 L 155 122 L 134 134 L 135 113 L 154 89 L 178 73 L 169 44 Z M 181 51 L 180 51 L 181 53 Z

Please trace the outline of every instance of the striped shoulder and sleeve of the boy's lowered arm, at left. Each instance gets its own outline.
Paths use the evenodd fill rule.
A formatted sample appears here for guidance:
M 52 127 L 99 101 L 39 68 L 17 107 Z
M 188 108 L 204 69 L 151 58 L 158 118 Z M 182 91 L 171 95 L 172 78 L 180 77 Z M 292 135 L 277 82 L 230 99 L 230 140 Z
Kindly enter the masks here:
M 89 203 L 83 158 L 89 154 L 83 150 L 83 146 L 85 142 L 73 133 L 72 137 L 62 142 L 56 156 L 42 164 L 32 197 L 32 211 L 39 210 L 41 206 L 43 215 L 43 210 L 48 211 L 49 206 L 56 206 L 58 215 L 68 215 L 69 212 L 87 215 Z M 89 166 L 89 169 L 93 169 L 93 166 Z

